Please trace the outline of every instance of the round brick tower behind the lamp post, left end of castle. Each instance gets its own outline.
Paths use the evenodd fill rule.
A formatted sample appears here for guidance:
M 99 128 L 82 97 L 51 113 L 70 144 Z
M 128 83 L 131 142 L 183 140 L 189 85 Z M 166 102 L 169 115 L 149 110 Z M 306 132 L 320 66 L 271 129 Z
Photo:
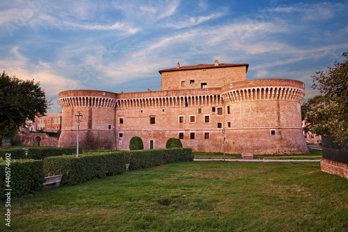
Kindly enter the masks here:
M 86 151 L 116 149 L 116 93 L 96 90 L 68 90 L 59 93 L 62 130 L 58 147 L 77 145 L 77 119 L 83 115 L 79 127 L 79 145 Z

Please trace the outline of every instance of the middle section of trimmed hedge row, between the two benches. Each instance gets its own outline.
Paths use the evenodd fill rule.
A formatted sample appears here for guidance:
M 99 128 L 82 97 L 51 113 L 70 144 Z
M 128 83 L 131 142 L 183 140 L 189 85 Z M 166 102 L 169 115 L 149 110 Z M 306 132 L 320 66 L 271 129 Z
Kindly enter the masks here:
M 46 176 L 63 174 L 61 185 L 77 185 L 86 181 L 122 174 L 126 170 L 125 155 L 117 151 L 76 156 L 53 156 L 44 159 Z

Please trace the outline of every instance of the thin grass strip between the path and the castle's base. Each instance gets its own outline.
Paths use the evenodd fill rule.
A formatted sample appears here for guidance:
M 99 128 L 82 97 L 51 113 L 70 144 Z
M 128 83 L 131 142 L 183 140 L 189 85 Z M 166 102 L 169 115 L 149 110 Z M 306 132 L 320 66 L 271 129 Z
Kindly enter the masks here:
M 254 155 L 254 159 L 264 158 L 273 160 L 319 160 L 322 157 L 322 151 L 309 149 L 309 154 L 288 154 L 288 155 Z M 223 158 L 221 152 L 193 152 L 195 158 Z M 242 154 L 225 154 L 225 158 L 242 158 Z

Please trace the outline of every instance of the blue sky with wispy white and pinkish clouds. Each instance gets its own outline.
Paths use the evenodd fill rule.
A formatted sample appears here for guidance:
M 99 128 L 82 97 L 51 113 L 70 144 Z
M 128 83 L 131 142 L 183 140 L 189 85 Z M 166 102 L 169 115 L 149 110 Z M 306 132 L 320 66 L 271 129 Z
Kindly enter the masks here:
M 248 63 L 248 80 L 315 72 L 348 51 L 348 1 L 0 2 L 0 67 L 34 79 L 61 112 L 65 90 L 161 90 L 160 69 Z

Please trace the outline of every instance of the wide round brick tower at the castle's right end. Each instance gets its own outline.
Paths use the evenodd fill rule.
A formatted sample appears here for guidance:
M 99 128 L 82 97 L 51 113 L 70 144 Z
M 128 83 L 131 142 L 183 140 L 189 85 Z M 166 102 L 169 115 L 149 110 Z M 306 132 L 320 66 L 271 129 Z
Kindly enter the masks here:
M 301 81 L 261 79 L 223 87 L 226 152 L 233 154 L 306 154 L 302 131 Z

